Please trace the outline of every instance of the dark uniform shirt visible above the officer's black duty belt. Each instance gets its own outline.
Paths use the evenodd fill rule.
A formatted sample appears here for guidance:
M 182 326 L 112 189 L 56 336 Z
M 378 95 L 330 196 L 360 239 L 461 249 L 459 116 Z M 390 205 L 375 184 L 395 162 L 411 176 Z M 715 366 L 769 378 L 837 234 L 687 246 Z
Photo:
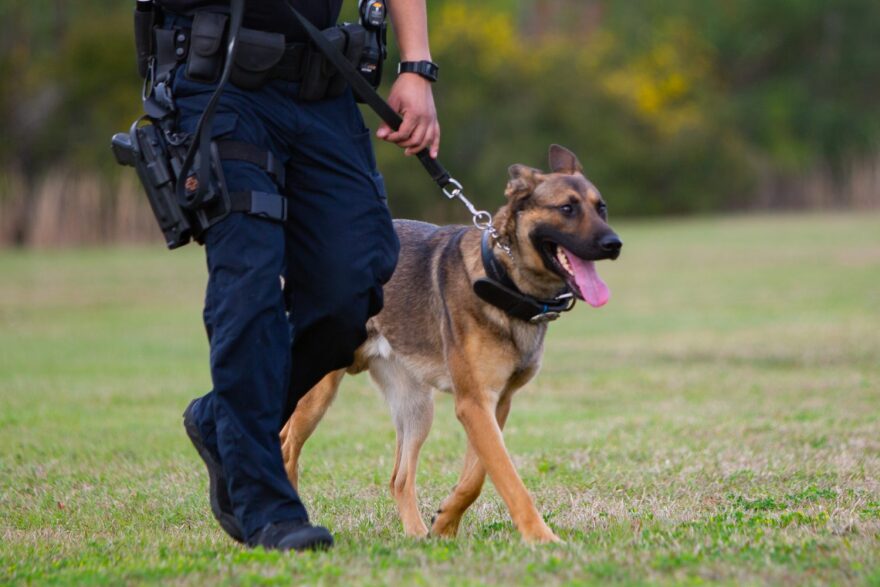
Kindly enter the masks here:
M 228 8 L 229 0 L 157 0 L 157 4 L 170 12 L 190 14 L 198 8 Z M 326 29 L 336 24 L 342 9 L 342 0 L 293 0 L 293 5 L 316 27 Z M 308 40 L 305 30 L 296 22 L 285 0 L 247 0 L 244 26 L 259 31 L 284 33 L 288 41 Z

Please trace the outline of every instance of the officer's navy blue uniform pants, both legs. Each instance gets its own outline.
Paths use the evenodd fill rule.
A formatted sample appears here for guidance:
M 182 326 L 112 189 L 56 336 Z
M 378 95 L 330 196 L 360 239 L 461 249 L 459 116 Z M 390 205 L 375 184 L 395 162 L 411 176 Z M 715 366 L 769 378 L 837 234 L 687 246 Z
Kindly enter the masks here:
M 183 130 L 195 129 L 213 90 L 178 71 Z M 301 102 L 297 90 L 281 80 L 258 91 L 229 84 L 212 126 L 214 138 L 257 145 L 287 163 L 285 224 L 233 213 L 205 235 L 213 390 L 195 417 L 249 539 L 269 522 L 308 519 L 278 433 L 300 397 L 351 363 L 367 319 L 382 307 L 399 246 L 351 93 Z M 230 191 L 279 193 L 254 164 L 222 167 Z

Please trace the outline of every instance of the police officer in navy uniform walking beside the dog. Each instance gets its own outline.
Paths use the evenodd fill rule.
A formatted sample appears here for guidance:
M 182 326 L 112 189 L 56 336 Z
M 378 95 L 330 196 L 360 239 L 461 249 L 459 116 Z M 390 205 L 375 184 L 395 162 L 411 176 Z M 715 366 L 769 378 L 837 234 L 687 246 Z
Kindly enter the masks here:
M 199 11 L 223 5 L 156 1 L 163 30 L 173 29 L 179 39 Z M 342 0 L 292 4 L 323 29 L 336 22 Z M 397 132 L 383 125 L 377 136 L 407 155 L 427 147 L 436 157 L 434 76 L 424 75 L 436 66 L 419 63 L 431 59 L 425 0 L 393 0 L 388 12 L 407 72 L 399 74 L 388 101 L 403 125 Z M 288 49 L 308 40 L 285 0 L 249 1 L 244 27 L 283 33 Z M 188 49 L 177 55 L 192 52 L 197 37 L 193 32 Z M 172 79 L 179 128 L 192 133 L 216 83 L 193 81 L 184 64 Z M 367 319 L 382 308 L 382 285 L 399 247 L 370 133 L 351 91 L 303 100 L 295 79 L 272 79 L 252 90 L 229 84 L 213 119 L 214 140 L 249 143 L 286 164 L 283 186 L 254 162 L 224 159 L 222 171 L 230 192 L 283 190 L 288 220 L 234 212 L 205 233 L 213 390 L 184 412 L 187 434 L 208 468 L 220 525 L 248 546 L 279 550 L 333 544 L 327 529 L 310 524 L 288 481 L 278 433 L 300 397 L 353 360 Z

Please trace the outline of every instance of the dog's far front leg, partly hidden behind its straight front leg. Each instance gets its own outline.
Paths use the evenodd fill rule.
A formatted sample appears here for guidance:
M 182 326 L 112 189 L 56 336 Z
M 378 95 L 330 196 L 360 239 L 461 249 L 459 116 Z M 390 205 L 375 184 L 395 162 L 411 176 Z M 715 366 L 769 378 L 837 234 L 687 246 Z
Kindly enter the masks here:
M 495 418 L 498 421 L 498 427 L 503 429 L 504 423 L 507 421 L 507 415 L 510 413 L 510 400 L 512 393 L 508 393 L 498 402 L 495 409 Z M 431 525 L 432 536 L 443 536 L 452 538 L 458 533 L 458 525 L 465 511 L 480 496 L 483 489 L 483 483 L 486 480 L 486 468 L 480 462 L 473 445 L 468 441 L 467 452 L 464 455 L 464 466 L 461 470 L 461 476 L 458 483 L 452 490 L 452 493 L 443 500 L 440 509 L 434 516 Z

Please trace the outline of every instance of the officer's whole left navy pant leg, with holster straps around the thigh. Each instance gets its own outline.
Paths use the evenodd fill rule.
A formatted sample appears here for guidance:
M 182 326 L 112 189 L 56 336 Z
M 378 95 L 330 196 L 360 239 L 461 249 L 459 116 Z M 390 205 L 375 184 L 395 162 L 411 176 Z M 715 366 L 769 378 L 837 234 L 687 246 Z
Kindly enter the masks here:
M 195 128 L 213 88 L 178 78 L 180 126 Z M 267 125 L 281 107 L 272 92 L 227 87 L 215 136 L 246 141 L 280 155 Z M 230 191 L 277 192 L 259 167 L 222 164 Z M 290 332 L 280 276 L 286 266 L 281 224 L 233 213 L 205 234 L 208 287 L 204 319 L 213 390 L 196 418 L 223 465 L 236 518 L 248 539 L 269 522 L 307 520 L 284 470 L 278 420 L 286 405 Z

